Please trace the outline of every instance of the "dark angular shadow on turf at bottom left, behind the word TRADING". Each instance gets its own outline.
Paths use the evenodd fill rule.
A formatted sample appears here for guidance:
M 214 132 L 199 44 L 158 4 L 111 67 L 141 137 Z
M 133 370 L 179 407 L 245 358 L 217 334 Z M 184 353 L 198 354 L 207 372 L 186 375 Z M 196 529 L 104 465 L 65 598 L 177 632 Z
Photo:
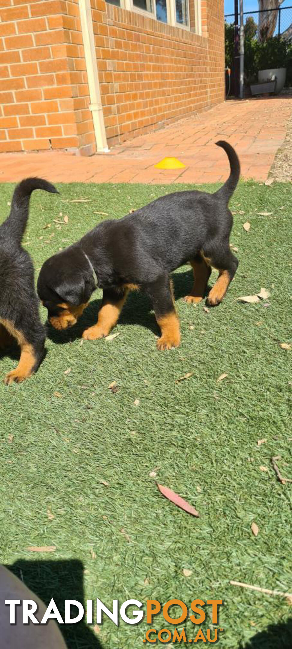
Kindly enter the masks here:
M 77 600 L 86 611 L 83 589 L 83 565 L 77 559 L 68 561 L 25 561 L 19 559 L 6 566 L 38 597 L 45 606 L 51 598 L 58 607 L 62 619 L 65 617 L 65 600 Z M 73 607 L 72 615 L 77 615 Z M 102 645 L 83 622 L 58 625 L 67 644 L 67 649 L 102 649 Z M 52 648 L 53 649 L 53 648 Z

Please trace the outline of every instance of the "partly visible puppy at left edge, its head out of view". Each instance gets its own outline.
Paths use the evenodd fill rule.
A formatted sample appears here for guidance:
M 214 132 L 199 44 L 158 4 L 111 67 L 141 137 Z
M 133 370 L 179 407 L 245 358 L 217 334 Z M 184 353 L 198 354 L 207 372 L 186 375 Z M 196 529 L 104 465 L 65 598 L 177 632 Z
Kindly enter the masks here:
M 8 385 L 23 381 L 38 369 L 45 343 L 34 268 L 28 252 L 21 247 L 34 190 L 57 193 L 51 183 L 41 178 L 22 180 L 14 190 L 10 215 L 0 227 L 0 349 L 14 342 L 21 349 L 18 367 L 5 378 Z

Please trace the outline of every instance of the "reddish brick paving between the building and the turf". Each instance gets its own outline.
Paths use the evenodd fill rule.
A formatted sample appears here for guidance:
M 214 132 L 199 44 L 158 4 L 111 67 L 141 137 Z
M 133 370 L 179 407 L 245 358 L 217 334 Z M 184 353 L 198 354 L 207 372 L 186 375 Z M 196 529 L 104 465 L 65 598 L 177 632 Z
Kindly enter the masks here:
M 62 151 L 0 154 L 0 182 L 38 175 L 51 182 L 205 183 L 225 180 L 228 161 L 215 147 L 227 140 L 241 160 L 244 178 L 265 180 L 282 146 L 292 114 L 291 96 L 227 101 L 164 129 L 85 158 Z M 165 157 L 183 169 L 155 169 Z

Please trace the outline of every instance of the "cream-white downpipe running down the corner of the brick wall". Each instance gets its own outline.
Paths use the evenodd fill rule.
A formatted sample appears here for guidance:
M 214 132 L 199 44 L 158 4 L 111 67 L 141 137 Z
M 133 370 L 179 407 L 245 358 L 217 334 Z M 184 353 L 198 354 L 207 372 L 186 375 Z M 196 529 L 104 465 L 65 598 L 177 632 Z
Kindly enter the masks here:
M 91 16 L 90 0 L 79 0 L 80 20 L 86 71 L 88 76 L 88 88 L 90 92 L 89 109 L 92 114 L 93 128 L 97 151 L 105 153 L 108 151 L 106 132 L 103 119 L 103 104 L 101 103 L 101 88 L 99 87 L 99 72 L 97 69 L 95 43 Z

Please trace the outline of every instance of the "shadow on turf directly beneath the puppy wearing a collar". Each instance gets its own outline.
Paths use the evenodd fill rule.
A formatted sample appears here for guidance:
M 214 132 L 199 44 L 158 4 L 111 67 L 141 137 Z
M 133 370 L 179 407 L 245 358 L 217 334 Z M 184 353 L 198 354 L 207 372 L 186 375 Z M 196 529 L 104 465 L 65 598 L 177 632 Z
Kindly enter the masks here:
M 175 291 L 175 300 L 188 295 L 193 286 L 193 272 L 174 273 L 171 276 Z M 64 331 L 57 331 L 50 324 L 47 327 L 47 336 L 56 345 L 64 345 L 82 336 L 84 329 L 97 323 L 97 314 L 101 307 L 101 299 L 93 300 L 84 311 L 82 317 L 75 326 Z M 139 324 L 154 334 L 159 334 L 158 324 L 152 311 L 150 300 L 143 293 L 133 292 L 128 295 L 127 302 L 119 317 L 119 324 Z

